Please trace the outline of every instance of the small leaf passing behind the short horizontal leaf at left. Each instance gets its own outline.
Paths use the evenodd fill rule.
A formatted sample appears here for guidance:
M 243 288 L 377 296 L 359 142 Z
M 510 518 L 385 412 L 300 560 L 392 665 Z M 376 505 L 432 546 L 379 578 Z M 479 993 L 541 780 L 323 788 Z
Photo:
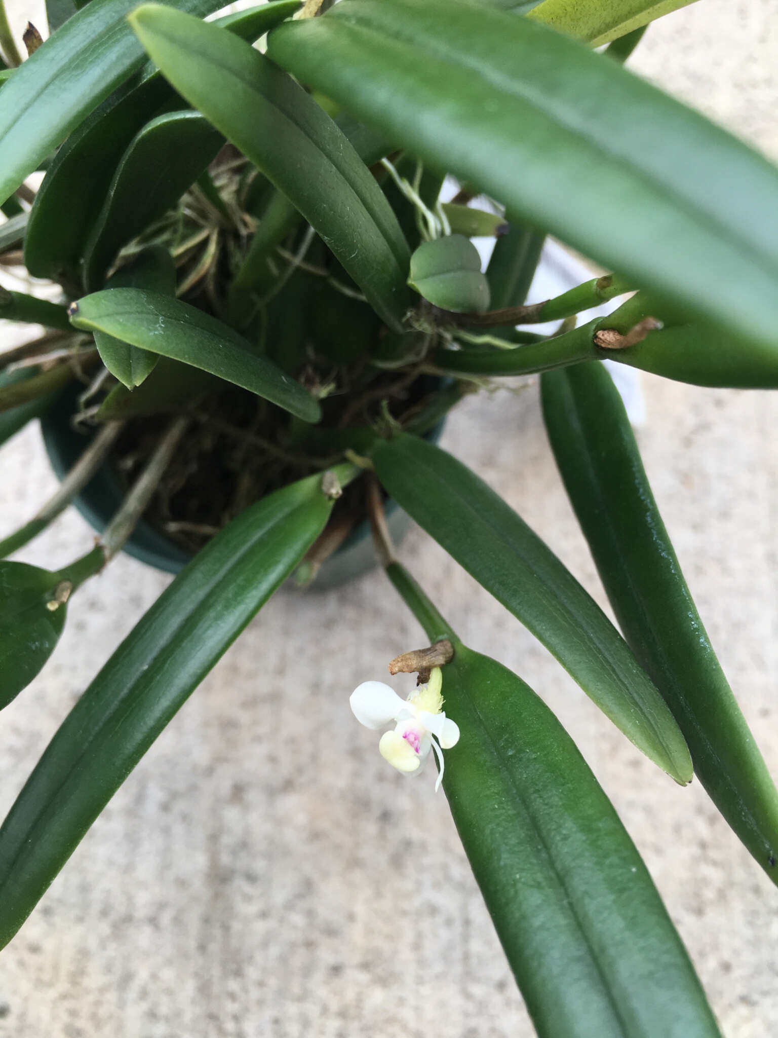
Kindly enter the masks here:
M 152 245 L 143 249 L 136 258 L 120 267 L 108 281 L 109 289 L 146 289 L 167 296 L 175 295 L 175 265 L 166 248 Z M 115 378 L 133 389 L 151 374 L 160 359 L 159 354 L 139 350 L 119 338 L 94 332 L 94 345 L 101 360 Z

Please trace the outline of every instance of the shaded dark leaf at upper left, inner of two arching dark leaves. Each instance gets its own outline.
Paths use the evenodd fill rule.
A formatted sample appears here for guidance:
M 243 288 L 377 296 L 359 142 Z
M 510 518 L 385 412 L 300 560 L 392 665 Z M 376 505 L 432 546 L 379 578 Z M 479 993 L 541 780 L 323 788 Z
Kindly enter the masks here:
M 120 248 L 171 209 L 218 155 L 224 138 L 199 112 L 151 119 L 130 143 L 84 249 L 84 284 L 102 286 Z

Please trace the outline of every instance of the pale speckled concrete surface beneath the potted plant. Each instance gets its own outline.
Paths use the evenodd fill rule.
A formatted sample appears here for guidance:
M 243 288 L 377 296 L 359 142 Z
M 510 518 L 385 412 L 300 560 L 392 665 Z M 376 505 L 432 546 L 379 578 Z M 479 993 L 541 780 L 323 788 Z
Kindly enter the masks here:
M 636 66 L 776 154 L 775 23 L 772 0 L 701 0 L 654 28 Z M 734 89 L 722 85 L 727 77 Z M 654 378 L 644 386 L 640 442 L 656 496 L 776 773 L 778 395 Z M 549 454 L 536 386 L 467 401 L 443 445 L 543 530 L 604 603 Z M 54 480 L 35 429 L 3 447 L 1 461 L 6 530 Z M 67 514 L 19 557 L 61 566 L 89 537 Z M 651 767 L 420 531 L 402 558 L 465 640 L 518 671 L 578 741 L 727 1038 L 772 1033 L 778 897 L 699 785 L 680 790 Z M 1 814 L 167 579 L 122 556 L 74 601 L 50 664 L 2 714 Z M 271 601 L 0 956 L 1 1038 L 530 1035 L 444 796 L 433 794 L 430 773 L 392 772 L 348 709 L 359 681 L 383 677 L 392 656 L 421 640 L 380 573 Z

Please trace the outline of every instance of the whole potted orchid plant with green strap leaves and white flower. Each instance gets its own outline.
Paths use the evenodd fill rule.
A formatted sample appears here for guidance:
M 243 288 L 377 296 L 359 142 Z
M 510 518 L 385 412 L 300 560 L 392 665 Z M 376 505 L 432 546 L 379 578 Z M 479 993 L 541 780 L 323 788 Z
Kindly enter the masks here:
M 776 880 L 775 786 L 600 362 L 778 388 L 778 171 L 624 66 L 685 2 L 47 0 L 22 60 L 0 0 L 0 331 L 36 329 L 0 354 L 0 441 L 39 418 L 50 450 L 76 444 L 0 542 L 0 706 L 122 546 L 179 571 L 0 827 L 0 944 L 271 595 L 369 524 L 428 645 L 393 661 L 418 674 L 408 699 L 370 680 L 352 711 L 397 771 L 435 755 L 538 1034 L 719 1034 L 576 745 L 463 645 L 387 525 L 398 504 L 669 780 L 696 774 Z M 528 304 L 549 234 L 600 273 Z M 436 445 L 506 376 L 539 383 L 619 629 Z M 98 484 L 83 555 L 7 559 Z

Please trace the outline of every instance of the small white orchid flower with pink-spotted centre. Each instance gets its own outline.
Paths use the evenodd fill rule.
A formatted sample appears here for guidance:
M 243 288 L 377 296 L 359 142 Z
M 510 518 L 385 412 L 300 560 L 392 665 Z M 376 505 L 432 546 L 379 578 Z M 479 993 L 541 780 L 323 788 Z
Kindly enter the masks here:
M 460 729 L 442 709 L 442 687 L 443 675 L 436 666 L 428 683 L 415 688 L 407 700 L 383 681 L 363 681 L 349 701 L 354 716 L 365 728 L 376 730 L 396 721 L 393 731 L 382 735 L 379 753 L 398 771 L 420 771 L 429 750 L 435 750 L 440 766 L 436 792 L 443 780 L 443 750 L 460 740 Z

